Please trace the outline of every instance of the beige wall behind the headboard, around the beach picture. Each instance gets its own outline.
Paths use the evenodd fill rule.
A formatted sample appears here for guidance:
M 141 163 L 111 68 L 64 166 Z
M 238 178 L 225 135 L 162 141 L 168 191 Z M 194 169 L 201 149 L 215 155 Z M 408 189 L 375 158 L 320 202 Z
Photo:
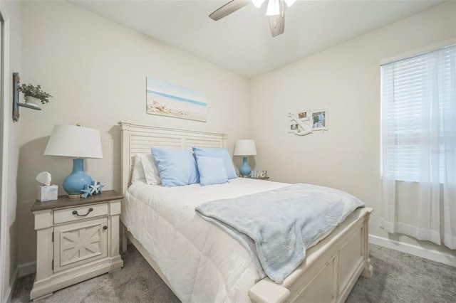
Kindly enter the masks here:
M 53 95 L 43 110 L 22 110 L 19 137 L 19 264 L 36 259 L 31 204 L 36 175 L 49 171 L 59 185 L 71 158 L 43 156 L 54 124 L 99 129 L 103 159 L 86 171 L 104 189 L 120 189 L 120 120 L 229 133 L 228 149 L 247 129 L 248 80 L 66 1 L 23 4 L 22 83 Z M 145 79 L 204 92 L 207 122 L 145 113 Z

